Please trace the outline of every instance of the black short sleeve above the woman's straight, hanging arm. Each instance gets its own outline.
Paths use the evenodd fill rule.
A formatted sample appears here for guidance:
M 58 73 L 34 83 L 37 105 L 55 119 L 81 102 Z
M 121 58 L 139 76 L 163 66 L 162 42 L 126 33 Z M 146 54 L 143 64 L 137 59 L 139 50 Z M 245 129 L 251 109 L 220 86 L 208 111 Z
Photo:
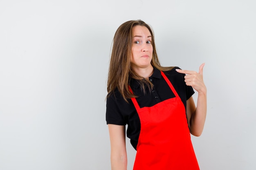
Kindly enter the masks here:
M 117 99 L 113 95 L 107 98 L 106 121 L 107 124 L 126 125 L 124 116 L 118 107 Z

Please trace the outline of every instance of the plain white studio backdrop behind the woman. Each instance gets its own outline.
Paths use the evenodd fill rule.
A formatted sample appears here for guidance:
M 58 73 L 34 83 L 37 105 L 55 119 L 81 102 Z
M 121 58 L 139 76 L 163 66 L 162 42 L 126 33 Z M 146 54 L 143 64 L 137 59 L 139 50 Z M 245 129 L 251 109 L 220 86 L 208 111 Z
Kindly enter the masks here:
M 206 63 L 207 120 L 191 137 L 201 170 L 255 170 L 255 9 L 254 0 L 0 0 L 0 169 L 110 170 L 111 43 L 120 24 L 141 19 L 163 66 Z M 129 140 L 127 150 L 132 170 Z

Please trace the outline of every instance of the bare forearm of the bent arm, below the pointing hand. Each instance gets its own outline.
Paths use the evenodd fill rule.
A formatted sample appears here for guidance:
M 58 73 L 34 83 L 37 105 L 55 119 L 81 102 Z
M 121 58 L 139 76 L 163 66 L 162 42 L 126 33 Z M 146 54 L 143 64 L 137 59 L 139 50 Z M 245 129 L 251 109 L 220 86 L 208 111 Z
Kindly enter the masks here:
M 204 129 L 207 113 L 207 95 L 205 92 L 198 93 L 197 107 L 190 119 L 190 132 L 194 136 L 200 136 Z

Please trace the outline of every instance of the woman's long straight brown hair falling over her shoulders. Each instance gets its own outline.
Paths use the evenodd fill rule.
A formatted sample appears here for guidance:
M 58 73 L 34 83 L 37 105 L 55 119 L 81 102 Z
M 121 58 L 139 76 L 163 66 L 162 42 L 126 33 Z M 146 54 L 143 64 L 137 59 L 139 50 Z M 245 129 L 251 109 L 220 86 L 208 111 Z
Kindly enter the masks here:
M 121 93 L 122 97 L 126 102 L 128 98 L 137 97 L 133 95 L 129 90 L 129 82 L 130 78 L 138 79 L 141 88 L 144 90 L 148 86 L 148 88 L 153 88 L 153 84 L 144 77 L 137 75 L 131 69 L 131 49 L 132 49 L 132 28 L 134 26 L 146 26 L 149 30 L 152 41 L 151 44 L 153 46 L 153 55 L 151 64 L 153 67 L 161 70 L 161 71 L 168 71 L 171 70 L 173 67 L 162 67 L 159 63 L 156 47 L 155 47 L 155 38 L 152 29 L 148 24 L 141 20 L 131 20 L 124 22 L 119 26 L 117 29 L 115 36 L 113 38 L 113 45 L 112 45 L 112 53 L 110 58 L 110 66 L 108 71 L 108 96 L 109 97 L 117 88 L 117 90 Z

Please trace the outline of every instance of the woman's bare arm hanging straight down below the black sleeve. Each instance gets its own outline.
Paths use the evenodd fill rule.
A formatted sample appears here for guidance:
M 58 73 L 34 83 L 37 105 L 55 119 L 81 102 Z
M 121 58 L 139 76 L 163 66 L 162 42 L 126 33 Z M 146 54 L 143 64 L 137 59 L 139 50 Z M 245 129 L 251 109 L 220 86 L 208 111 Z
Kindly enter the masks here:
M 111 170 L 127 170 L 125 126 L 108 124 Z

